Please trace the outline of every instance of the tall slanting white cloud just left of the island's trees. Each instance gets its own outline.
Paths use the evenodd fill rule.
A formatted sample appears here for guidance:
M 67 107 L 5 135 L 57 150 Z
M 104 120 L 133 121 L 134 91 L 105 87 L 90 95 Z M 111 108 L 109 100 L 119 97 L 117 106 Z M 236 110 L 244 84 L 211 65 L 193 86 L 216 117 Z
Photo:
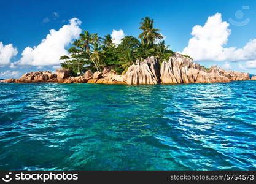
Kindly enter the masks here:
M 50 34 L 42 40 L 41 44 L 31 47 L 26 47 L 21 59 L 15 63 L 11 63 L 10 67 L 17 66 L 52 66 L 60 64 L 60 56 L 67 55 L 65 47 L 72 40 L 79 37 L 81 29 L 79 25 L 82 22 L 77 18 L 69 20 L 68 25 L 64 25 L 58 31 L 51 29 Z

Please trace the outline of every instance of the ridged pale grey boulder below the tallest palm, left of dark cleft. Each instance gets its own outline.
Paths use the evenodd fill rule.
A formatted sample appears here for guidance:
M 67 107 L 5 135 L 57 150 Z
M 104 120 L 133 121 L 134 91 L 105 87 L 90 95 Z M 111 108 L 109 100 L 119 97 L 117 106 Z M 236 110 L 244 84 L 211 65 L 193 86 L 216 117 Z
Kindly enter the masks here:
M 157 84 L 160 83 L 160 67 L 158 60 L 151 56 L 144 61 L 136 61 L 127 70 L 127 84 Z

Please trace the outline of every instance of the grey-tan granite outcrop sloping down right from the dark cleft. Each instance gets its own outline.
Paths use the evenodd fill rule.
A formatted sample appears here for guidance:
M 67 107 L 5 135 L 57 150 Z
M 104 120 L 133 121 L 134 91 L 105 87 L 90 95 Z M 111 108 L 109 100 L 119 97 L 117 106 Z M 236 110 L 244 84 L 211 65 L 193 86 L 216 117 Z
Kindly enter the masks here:
M 163 61 L 161 64 L 161 83 L 217 83 L 232 80 L 248 80 L 249 74 L 225 71 L 218 66 L 212 66 L 208 71 L 192 59 L 179 53 Z

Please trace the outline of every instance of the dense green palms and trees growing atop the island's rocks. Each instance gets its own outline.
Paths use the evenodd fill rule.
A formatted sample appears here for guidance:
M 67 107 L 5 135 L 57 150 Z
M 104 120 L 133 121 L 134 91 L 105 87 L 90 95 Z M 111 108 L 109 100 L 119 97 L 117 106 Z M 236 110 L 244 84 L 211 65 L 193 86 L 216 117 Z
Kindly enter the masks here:
M 61 67 L 70 69 L 73 75 L 82 74 L 88 69 L 93 72 L 103 71 L 107 66 L 111 66 L 118 74 L 124 74 L 136 59 L 155 56 L 161 63 L 169 59 L 173 51 L 165 44 L 160 29 L 154 28 L 153 23 L 149 17 L 142 18 L 138 39 L 125 36 L 118 45 L 114 44 L 109 34 L 99 37 L 98 34 L 83 31 L 68 49 L 69 55 L 60 57 L 63 61 Z

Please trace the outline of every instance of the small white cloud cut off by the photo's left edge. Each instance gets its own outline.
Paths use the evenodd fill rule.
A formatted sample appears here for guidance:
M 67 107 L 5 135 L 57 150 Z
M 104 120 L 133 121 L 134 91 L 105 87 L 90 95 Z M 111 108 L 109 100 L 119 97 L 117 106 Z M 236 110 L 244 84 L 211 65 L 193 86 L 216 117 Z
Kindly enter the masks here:
M 18 53 L 17 48 L 12 44 L 4 45 L 0 42 L 0 67 L 10 63 L 10 59 Z

